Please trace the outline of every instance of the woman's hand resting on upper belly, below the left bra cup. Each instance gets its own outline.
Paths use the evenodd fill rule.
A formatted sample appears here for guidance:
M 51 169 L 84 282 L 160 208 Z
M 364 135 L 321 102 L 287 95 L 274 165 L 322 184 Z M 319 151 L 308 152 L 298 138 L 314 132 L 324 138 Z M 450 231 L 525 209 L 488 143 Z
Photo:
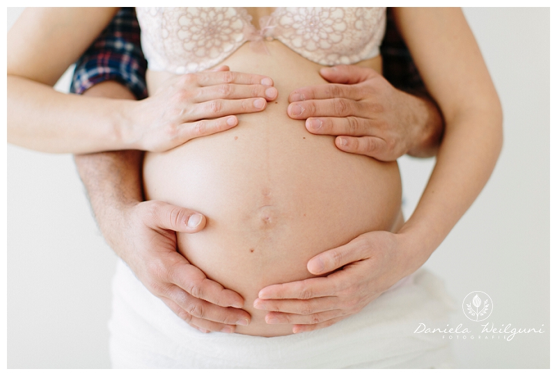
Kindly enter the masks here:
M 263 111 L 278 95 L 269 77 L 230 72 L 227 66 L 171 75 L 158 91 L 149 89 L 155 95 L 127 104 L 130 127 L 122 138 L 130 149 L 161 152 L 229 130 L 238 123 L 235 115 Z

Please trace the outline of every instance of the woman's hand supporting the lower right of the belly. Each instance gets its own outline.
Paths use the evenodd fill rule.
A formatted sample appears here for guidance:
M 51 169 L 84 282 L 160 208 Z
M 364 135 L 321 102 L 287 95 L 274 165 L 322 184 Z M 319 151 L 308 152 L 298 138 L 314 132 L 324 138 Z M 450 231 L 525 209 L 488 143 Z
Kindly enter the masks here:
M 329 327 L 361 311 L 425 262 L 410 244 L 405 234 L 365 233 L 308 261 L 311 274 L 332 272 L 328 276 L 267 286 L 253 306 L 271 311 L 265 316 L 268 324 L 295 324 L 294 333 Z

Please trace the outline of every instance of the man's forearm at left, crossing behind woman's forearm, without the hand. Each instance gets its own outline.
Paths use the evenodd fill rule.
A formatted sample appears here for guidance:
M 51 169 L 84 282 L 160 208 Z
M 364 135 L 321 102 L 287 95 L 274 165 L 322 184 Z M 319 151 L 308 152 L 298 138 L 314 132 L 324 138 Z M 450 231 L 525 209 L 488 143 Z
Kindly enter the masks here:
M 133 100 L 124 86 L 106 81 L 84 93 L 88 97 L 110 97 Z M 75 155 L 77 171 L 87 190 L 91 207 L 100 229 L 111 246 L 113 221 L 121 217 L 123 208 L 143 201 L 141 163 L 143 152 L 121 150 Z

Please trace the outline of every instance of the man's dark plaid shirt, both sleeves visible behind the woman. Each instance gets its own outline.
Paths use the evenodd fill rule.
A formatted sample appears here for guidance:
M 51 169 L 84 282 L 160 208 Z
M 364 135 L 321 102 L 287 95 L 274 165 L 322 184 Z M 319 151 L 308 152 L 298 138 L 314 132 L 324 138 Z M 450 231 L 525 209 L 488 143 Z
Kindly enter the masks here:
M 147 61 L 141 51 L 140 32 L 134 8 L 122 8 L 77 61 L 70 92 L 81 94 L 102 81 L 115 80 L 127 86 L 137 99 L 147 97 Z M 381 54 L 383 75 L 393 86 L 405 91 L 425 90 L 390 8 Z

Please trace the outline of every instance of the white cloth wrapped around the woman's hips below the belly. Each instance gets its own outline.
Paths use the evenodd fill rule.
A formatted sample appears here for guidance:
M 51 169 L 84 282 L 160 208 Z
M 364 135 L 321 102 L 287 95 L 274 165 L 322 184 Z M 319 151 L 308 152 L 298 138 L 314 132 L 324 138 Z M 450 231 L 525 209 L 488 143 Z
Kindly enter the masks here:
M 455 308 L 444 283 L 418 269 L 356 315 L 280 337 L 203 334 L 189 327 L 118 261 L 109 322 L 114 368 L 450 368 L 445 327 Z M 431 325 L 431 326 L 429 326 Z

